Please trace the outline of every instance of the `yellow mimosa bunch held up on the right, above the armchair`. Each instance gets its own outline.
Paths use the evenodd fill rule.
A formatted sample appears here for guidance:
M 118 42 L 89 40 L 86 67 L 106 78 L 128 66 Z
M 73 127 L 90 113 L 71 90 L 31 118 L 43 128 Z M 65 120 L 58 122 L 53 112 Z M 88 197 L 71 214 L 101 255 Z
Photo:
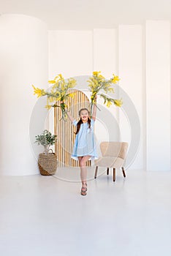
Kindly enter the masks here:
M 93 75 L 88 80 L 88 87 L 91 91 L 91 113 L 93 104 L 96 104 L 96 94 L 104 99 L 104 104 L 107 103 L 107 107 L 110 107 L 113 103 L 116 106 L 121 107 L 123 104 L 122 99 L 113 99 L 100 92 L 102 90 L 106 94 L 108 92 L 114 92 L 113 83 L 117 83 L 119 80 L 120 78 L 118 78 L 118 75 L 113 74 L 113 78 L 107 80 L 101 75 L 101 71 L 93 72 Z

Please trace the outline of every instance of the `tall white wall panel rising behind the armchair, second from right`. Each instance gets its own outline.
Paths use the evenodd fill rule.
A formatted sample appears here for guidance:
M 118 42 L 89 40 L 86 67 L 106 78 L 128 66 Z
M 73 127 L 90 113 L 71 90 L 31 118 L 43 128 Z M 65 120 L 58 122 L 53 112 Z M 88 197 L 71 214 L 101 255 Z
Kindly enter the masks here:
M 118 31 L 119 47 L 119 76 L 120 86 L 132 99 L 134 108 L 137 110 L 141 124 L 141 143 L 134 162 L 130 166 L 132 169 L 143 169 L 144 154 L 143 146 L 144 130 L 142 127 L 144 91 L 142 85 L 142 26 L 121 25 Z M 124 102 L 123 102 L 124 104 Z M 132 131 L 129 120 L 121 113 L 120 115 L 121 137 L 123 141 L 132 142 Z

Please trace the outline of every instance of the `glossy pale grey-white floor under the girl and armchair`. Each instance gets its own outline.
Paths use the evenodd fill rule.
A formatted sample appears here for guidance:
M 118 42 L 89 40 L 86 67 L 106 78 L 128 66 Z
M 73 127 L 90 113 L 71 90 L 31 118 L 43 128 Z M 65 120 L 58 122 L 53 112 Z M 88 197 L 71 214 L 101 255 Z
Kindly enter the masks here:
M 0 255 L 171 255 L 171 172 L 0 177 Z

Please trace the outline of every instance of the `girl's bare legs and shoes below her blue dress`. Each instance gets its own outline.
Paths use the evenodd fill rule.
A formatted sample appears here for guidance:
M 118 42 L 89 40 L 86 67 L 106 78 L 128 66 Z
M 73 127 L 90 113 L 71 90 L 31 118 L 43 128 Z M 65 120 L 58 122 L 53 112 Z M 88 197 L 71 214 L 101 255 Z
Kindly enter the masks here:
M 86 195 L 86 187 L 87 187 L 87 183 L 86 183 L 86 179 L 87 179 L 87 167 L 86 167 L 86 162 L 88 161 L 88 159 L 91 156 L 85 156 L 85 157 L 78 157 L 79 160 L 79 164 L 80 164 L 80 178 L 83 184 L 82 187 L 82 195 Z

